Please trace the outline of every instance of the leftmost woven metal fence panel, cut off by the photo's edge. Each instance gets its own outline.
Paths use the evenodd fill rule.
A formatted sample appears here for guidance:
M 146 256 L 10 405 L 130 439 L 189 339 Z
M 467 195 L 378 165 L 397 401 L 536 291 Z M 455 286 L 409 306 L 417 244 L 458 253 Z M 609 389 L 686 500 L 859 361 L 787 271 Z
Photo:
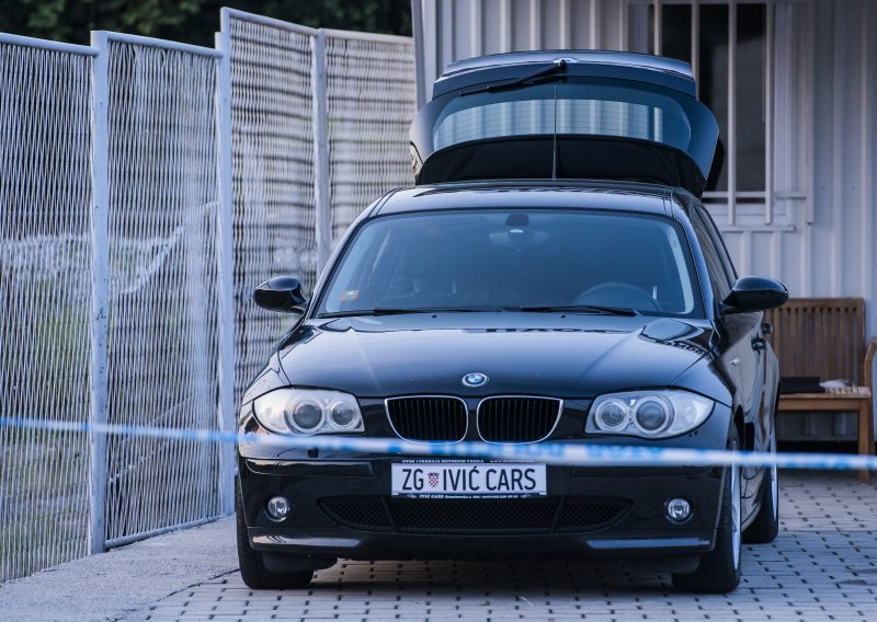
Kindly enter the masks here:
M 89 48 L 0 38 L 0 413 L 84 423 Z M 0 580 L 89 548 L 88 438 L 0 428 Z

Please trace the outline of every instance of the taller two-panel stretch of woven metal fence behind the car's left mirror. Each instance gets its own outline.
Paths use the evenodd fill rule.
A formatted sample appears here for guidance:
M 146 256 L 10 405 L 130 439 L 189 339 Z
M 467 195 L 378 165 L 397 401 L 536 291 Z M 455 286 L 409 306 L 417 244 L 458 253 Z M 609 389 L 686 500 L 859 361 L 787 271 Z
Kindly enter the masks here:
M 412 183 L 414 49 L 407 37 L 315 30 L 223 9 L 231 74 L 236 395 L 289 319 L 254 310 L 271 275 L 309 291 L 371 201 Z

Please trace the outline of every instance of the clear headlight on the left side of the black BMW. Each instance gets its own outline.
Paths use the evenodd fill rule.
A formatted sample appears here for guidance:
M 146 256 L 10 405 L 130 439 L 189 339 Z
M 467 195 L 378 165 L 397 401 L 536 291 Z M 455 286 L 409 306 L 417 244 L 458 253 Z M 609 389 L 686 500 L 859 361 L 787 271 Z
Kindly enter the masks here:
M 356 398 L 340 391 L 277 389 L 253 402 L 253 414 L 277 434 L 338 434 L 363 431 Z

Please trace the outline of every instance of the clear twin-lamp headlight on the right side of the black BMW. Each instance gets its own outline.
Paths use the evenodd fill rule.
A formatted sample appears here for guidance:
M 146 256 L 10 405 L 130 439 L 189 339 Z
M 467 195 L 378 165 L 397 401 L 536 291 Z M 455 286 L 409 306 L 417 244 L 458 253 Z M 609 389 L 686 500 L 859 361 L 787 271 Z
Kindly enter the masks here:
M 687 391 L 629 391 L 601 395 L 585 431 L 667 438 L 691 431 L 713 412 L 713 400 Z

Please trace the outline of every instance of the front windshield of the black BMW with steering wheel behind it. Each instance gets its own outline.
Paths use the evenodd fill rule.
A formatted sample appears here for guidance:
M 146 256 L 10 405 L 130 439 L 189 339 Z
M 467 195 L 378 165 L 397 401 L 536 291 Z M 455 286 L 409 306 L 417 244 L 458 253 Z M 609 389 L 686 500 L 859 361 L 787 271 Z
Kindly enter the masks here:
M 318 315 L 581 311 L 696 316 L 691 252 L 674 221 L 596 210 L 383 216 L 348 243 Z

